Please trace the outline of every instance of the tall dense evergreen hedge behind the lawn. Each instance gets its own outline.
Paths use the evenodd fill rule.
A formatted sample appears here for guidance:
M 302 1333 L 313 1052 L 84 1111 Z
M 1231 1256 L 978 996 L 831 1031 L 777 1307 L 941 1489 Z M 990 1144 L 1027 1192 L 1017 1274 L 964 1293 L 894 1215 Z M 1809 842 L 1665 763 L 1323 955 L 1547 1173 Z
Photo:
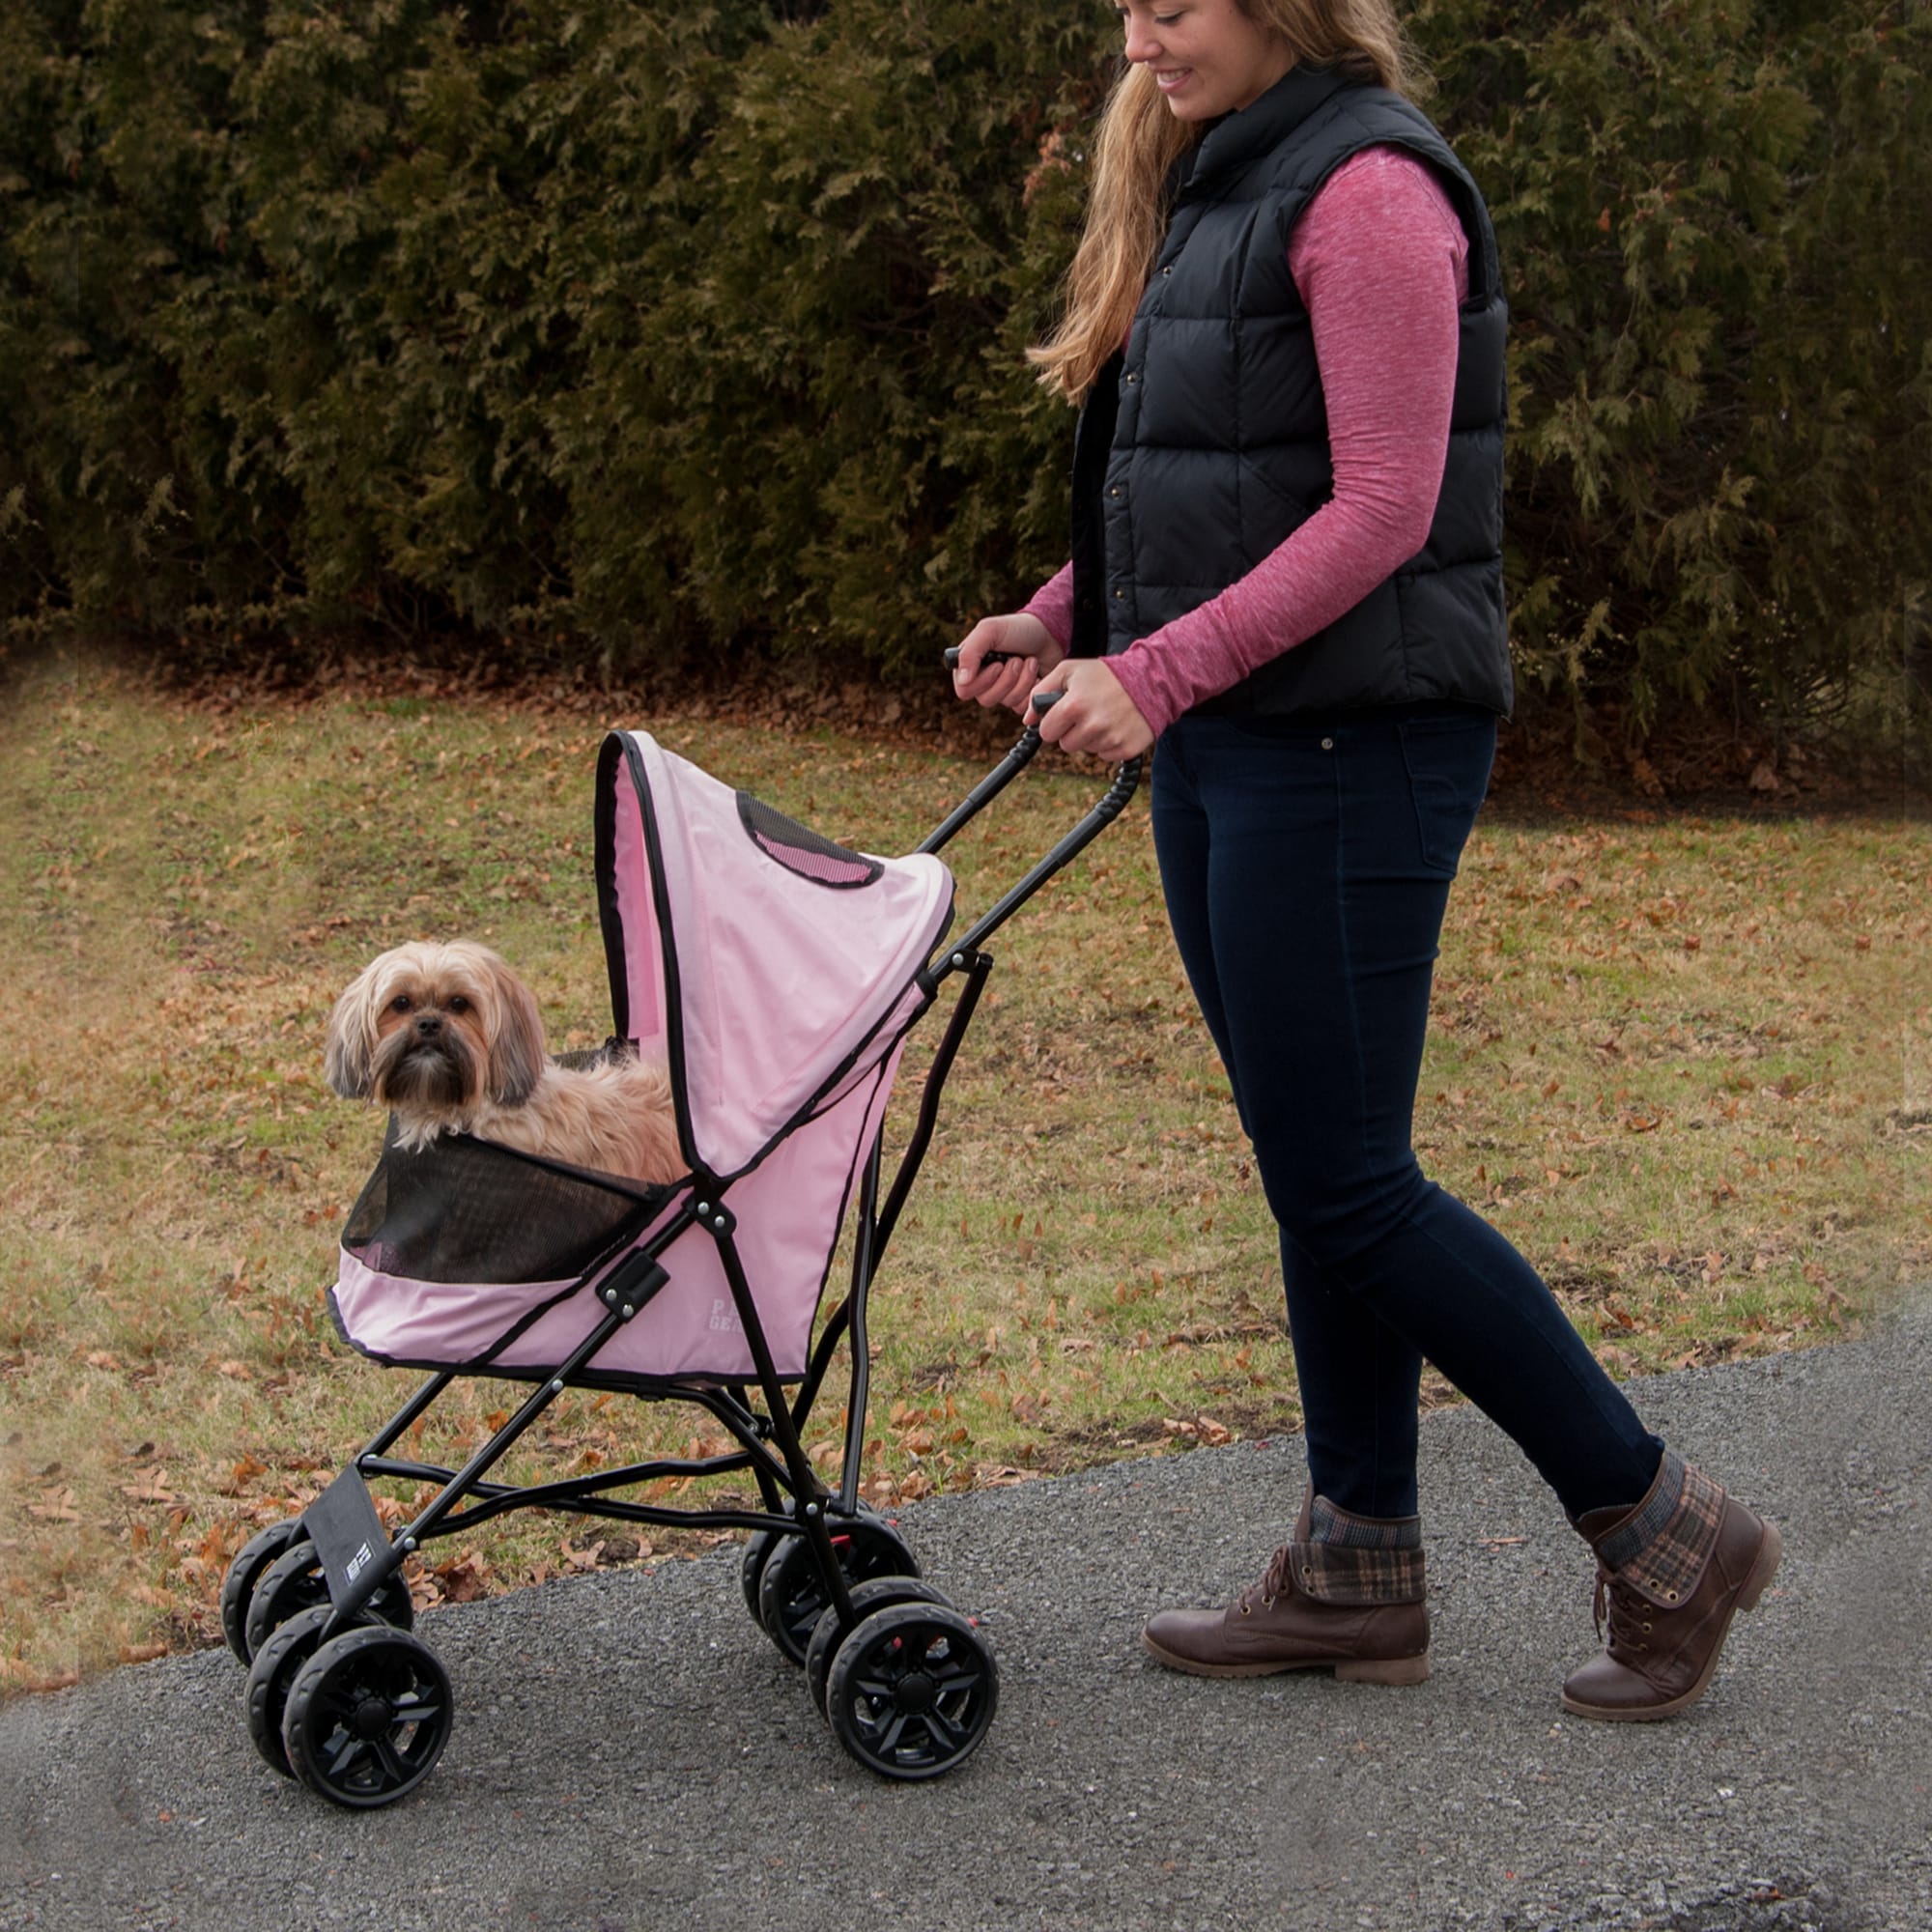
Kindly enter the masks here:
M 1509 276 L 1532 686 L 1903 688 L 1915 0 L 1420 0 Z M 1094 0 L 12 0 L 0 620 L 931 663 L 1065 547 Z

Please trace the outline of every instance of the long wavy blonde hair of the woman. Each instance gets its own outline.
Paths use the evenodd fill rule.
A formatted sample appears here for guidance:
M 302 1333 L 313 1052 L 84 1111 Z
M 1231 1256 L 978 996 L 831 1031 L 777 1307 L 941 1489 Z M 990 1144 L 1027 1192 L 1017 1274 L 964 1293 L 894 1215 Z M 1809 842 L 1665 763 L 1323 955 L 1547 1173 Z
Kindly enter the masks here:
M 1391 0 L 1236 0 L 1289 43 L 1298 68 L 1333 68 L 1403 93 L 1414 60 Z M 1086 228 L 1066 270 L 1066 313 L 1026 359 L 1070 402 L 1094 386 L 1126 338 L 1167 224 L 1167 176 L 1200 129 L 1167 110 L 1153 73 L 1130 66 L 1113 85 L 1094 143 Z

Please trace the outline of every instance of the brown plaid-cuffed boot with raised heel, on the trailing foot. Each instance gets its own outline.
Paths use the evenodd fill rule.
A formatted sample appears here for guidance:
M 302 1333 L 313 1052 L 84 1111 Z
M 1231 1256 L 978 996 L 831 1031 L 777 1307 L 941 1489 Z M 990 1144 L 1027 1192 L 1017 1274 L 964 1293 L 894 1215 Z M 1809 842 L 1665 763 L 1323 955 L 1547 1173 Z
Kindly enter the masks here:
M 1777 1569 L 1777 1528 L 1669 1451 L 1636 1509 L 1592 1509 L 1577 1528 L 1596 1549 L 1596 1631 L 1607 1604 L 1609 1644 L 1563 1685 L 1563 1708 L 1617 1723 L 1689 1710 L 1731 1617 L 1756 1607 Z

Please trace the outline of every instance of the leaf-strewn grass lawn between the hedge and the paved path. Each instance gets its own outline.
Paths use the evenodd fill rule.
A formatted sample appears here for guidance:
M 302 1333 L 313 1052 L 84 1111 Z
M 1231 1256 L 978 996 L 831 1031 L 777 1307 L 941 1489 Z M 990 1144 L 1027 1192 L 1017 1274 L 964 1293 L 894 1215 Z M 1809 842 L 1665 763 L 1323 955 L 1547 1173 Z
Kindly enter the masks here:
M 537 987 L 553 1047 L 603 1037 L 589 806 L 611 723 L 879 852 L 983 769 L 804 721 L 346 688 L 187 703 L 89 659 L 0 688 L 0 1689 L 218 1640 L 228 1555 L 412 1385 L 323 1304 L 381 1138 L 323 1086 L 323 1020 L 384 945 L 468 933 Z M 1097 788 L 1043 757 L 949 850 L 962 912 Z M 1928 877 L 1932 833 L 1903 810 L 1486 813 L 1418 1146 L 1615 1374 L 1832 1339 L 1932 1264 Z M 867 1492 L 1293 1430 L 1269 1221 L 1144 806 L 993 951 L 873 1293 Z M 425 1447 L 479 1439 L 510 1393 L 460 1383 Z M 703 1435 L 697 1410 L 570 1397 L 520 1468 Z M 688 1544 L 512 1517 L 437 1546 L 415 1590 Z

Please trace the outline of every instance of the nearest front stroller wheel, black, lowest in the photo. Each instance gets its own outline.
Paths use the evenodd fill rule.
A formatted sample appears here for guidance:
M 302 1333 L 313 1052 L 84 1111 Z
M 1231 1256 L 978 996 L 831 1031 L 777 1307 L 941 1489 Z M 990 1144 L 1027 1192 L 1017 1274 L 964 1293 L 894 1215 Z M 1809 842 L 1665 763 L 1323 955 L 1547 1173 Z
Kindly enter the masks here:
M 282 1748 L 319 1797 L 373 1810 L 435 1770 L 452 1723 L 450 1677 L 421 1638 L 386 1625 L 330 1636 L 298 1669 Z

